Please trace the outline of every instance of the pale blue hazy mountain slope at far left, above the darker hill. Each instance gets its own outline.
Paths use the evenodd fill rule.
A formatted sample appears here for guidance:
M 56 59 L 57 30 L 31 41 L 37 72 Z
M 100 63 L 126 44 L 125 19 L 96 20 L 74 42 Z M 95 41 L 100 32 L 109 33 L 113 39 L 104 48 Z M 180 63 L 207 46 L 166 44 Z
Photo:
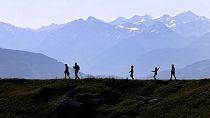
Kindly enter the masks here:
M 47 35 L 47 32 L 24 29 L 0 22 L 0 47 L 32 51 Z M 15 44 L 15 45 L 14 45 Z

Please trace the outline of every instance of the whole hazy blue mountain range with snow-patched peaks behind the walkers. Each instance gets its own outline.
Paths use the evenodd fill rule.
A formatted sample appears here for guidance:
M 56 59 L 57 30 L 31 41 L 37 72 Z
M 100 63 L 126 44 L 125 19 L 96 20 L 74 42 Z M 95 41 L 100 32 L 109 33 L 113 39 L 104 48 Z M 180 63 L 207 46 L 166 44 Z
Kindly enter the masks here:
M 94 17 L 40 29 L 0 23 L 0 47 L 42 53 L 63 63 L 78 62 L 92 75 L 137 78 L 155 66 L 167 70 L 209 59 L 210 20 L 191 11 L 175 16 L 119 17 L 104 22 Z M 201 76 L 202 77 L 202 76 Z

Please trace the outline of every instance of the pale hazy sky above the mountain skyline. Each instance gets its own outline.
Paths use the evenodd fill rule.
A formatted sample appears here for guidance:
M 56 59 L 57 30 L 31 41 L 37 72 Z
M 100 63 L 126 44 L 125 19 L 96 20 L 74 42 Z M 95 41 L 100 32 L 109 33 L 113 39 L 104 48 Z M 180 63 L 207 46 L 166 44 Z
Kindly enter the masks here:
M 1 22 L 31 28 L 88 16 L 111 20 L 118 16 L 160 16 L 183 11 L 210 18 L 210 0 L 0 0 Z

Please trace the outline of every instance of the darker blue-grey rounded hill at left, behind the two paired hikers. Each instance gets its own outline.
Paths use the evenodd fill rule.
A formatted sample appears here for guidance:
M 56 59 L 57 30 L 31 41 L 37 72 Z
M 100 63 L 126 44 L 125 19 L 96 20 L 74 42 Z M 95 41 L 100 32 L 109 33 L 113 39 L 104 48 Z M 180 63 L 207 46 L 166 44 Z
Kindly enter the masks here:
M 0 49 L 1 78 L 61 78 L 63 71 L 63 63 L 43 54 Z

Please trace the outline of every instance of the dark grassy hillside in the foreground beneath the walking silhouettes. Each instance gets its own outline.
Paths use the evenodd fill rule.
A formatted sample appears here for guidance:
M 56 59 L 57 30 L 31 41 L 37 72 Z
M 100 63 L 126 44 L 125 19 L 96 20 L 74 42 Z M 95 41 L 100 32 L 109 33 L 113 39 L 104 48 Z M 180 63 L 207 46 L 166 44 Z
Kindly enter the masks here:
M 210 80 L 0 80 L 1 118 L 209 118 Z

